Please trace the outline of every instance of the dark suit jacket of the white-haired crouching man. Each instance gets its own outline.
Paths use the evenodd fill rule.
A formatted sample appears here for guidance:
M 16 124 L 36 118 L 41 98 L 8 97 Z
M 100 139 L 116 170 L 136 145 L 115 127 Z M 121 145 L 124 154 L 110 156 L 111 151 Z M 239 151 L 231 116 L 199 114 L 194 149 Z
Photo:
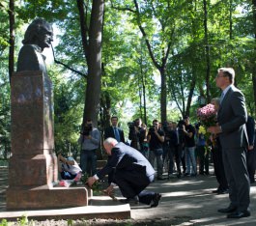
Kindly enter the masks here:
M 112 149 L 107 164 L 97 173 L 97 176 L 101 179 L 113 169 L 115 171 L 135 169 L 140 172 L 145 170 L 147 177 L 155 174 L 154 168 L 144 155 L 122 142 Z

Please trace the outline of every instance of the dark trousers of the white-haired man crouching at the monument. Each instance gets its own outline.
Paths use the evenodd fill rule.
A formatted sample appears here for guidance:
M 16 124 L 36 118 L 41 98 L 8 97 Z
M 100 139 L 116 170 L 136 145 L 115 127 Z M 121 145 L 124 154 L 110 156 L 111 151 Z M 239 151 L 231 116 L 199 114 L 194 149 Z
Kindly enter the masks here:
M 155 197 L 155 192 L 144 190 L 154 181 L 154 175 L 148 177 L 146 169 L 116 169 L 114 183 L 118 184 L 122 194 L 126 198 L 133 198 L 138 195 L 139 202 L 150 205 Z

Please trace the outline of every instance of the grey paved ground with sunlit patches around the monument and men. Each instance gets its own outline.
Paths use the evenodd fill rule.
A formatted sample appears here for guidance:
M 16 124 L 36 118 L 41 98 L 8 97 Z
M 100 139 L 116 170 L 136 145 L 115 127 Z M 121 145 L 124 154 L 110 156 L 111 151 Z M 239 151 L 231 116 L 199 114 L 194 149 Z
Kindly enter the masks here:
M 0 213 L 5 212 L 5 189 L 7 187 L 5 172 L 6 170 L 0 169 Z M 227 194 L 212 193 L 216 185 L 214 176 L 156 181 L 148 189 L 162 194 L 159 206 L 150 209 L 144 205 L 131 205 L 131 218 L 134 220 L 169 220 L 169 225 L 256 225 L 256 184 L 251 186 L 251 216 L 242 219 L 227 219 L 225 214 L 217 212 L 217 209 L 228 206 L 229 199 Z M 122 198 L 119 190 L 116 195 Z M 95 197 L 91 205 L 92 208 L 111 206 L 118 209 L 121 204 L 108 197 Z M 179 224 L 177 219 L 179 219 Z

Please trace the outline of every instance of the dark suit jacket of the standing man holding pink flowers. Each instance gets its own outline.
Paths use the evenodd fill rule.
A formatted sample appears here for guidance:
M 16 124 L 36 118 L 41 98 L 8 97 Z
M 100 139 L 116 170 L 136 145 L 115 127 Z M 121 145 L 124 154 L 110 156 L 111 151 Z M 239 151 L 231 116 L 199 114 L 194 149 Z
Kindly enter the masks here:
M 244 97 L 241 91 L 232 85 L 217 112 L 217 122 L 222 129 L 219 138 L 223 149 L 247 147 L 246 121 Z

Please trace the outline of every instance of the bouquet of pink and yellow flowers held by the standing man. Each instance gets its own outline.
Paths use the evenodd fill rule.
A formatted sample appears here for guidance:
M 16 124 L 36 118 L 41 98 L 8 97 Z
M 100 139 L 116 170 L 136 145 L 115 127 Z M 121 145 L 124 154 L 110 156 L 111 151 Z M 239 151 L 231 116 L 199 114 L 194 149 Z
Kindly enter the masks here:
M 197 109 L 197 117 L 204 127 L 216 125 L 216 111 L 212 103 Z

